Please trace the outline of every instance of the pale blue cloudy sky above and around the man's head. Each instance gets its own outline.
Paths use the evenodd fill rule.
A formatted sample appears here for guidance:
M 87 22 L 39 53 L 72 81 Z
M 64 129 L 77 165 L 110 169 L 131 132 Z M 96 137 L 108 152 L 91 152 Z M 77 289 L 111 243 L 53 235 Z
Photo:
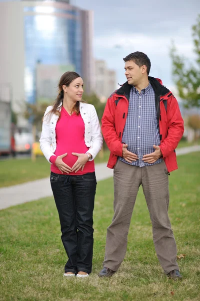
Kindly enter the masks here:
M 199 0 L 71 0 L 70 3 L 94 16 L 93 51 L 125 82 L 123 57 L 144 52 L 151 61 L 150 76 L 162 79 L 175 92 L 171 75 L 171 41 L 180 55 L 190 61 L 193 53 L 191 27 L 200 14 Z

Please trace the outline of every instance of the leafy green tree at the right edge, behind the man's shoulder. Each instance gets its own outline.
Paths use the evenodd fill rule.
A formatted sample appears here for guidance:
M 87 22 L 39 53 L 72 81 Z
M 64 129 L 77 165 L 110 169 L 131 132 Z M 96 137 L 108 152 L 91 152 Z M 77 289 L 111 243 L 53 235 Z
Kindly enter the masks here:
M 170 49 L 172 59 L 172 74 L 179 96 L 185 107 L 200 107 L 200 15 L 196 25 L 192 26 L 195 64 L 187 62 L 183 56 L 176 53 L 174 43 Z

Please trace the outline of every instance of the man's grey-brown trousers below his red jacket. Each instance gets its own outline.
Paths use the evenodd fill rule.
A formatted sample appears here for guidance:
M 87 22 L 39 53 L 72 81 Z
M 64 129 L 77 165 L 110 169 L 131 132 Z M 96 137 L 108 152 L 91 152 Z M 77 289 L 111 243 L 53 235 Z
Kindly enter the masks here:
M 176 244 L 168 218 L 168 173 L 164 161 L 137 167 L 117 161 L 114 168 L 114 216 L 107 228 L 103 266 L 117 271 L 125 256 L 132 210 L 142 185 L 157 258 L 167 274 L 177 269 Z

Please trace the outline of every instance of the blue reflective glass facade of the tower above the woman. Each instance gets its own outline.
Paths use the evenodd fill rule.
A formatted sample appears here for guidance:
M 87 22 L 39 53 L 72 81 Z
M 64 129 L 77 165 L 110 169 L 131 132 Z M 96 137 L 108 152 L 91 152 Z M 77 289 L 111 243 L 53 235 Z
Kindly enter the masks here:
M 23 12 L 25 93 L 27 101 L 34 103 L 37 64 L 66 66 L 66 70 L 73 66 L 70 70 L 82 74 L 81 15 L 72 7 L 26 6 Z

